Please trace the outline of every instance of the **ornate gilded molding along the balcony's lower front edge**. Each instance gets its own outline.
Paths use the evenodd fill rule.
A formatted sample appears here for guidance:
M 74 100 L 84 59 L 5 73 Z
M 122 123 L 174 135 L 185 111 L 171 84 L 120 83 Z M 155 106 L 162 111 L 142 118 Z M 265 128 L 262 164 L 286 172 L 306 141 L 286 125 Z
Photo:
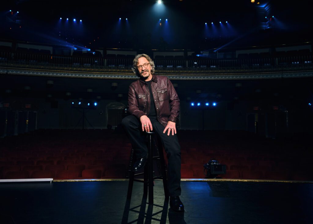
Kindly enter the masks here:
M 100 79 L 137 79 L 133 73 L 126 72 L 69 72 L 54 70 L 36 69 L 9 69 L 0 68 L 0 74 L 25 75 L 25 76 L 54 76 L 54 77 L 75 77 L 75 78 L 100 78 Z M 180 74 L 165 75 L 171 80 L 237 80 L 237 79 L 277 79 L 295 77 L 313 77 L 313 71 L 293 71 L 293 72 L 268 72 L 268 73 L 236 73 L 236 74 Z

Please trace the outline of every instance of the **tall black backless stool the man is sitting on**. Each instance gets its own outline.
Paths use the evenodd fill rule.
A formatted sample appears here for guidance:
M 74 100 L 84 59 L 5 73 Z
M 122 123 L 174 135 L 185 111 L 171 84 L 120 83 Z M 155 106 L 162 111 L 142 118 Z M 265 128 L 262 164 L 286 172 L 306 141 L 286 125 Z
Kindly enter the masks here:
M 148 146 L 148 160 L 144 167 L 143 173 L 135 174 L 133 169 L 133 163 L 135 162 L 134 156 L 134 149 L 131 149 L 131 162 L 129 165 L 129 184 L 128 184 L 128 191 L 127 191 L 127 200 L 131 199 L 131 194 L 133 190 L 133 183 L 134 181 L 143 183 L 143 194 L 147 196 L 149 191 L 149 205 L 153 204 L 153 180 L 161 179 L 163 180 L 163 188 L 164 188 L 164 195 L 168 198 L 168 191 L 167 191 L 167 177 L 166 177 L 166 165 L 164 162 L 163 156 L 163 148 L 162 142 L 160 138 L 155 134 L 155 132 L 145 132 L 147 135 L 147 146 Z M 153 156 L 153 148 L 156 149 L 158 156 Z M 161 149 L 161 150 L 160 150 Z M 161 174 L 159 176 L 154 176 L 153 171 L 153 160 L 160 161 L 160 168 Z M 135 179 L 135 176 L 144 175 L 143 180 Z

